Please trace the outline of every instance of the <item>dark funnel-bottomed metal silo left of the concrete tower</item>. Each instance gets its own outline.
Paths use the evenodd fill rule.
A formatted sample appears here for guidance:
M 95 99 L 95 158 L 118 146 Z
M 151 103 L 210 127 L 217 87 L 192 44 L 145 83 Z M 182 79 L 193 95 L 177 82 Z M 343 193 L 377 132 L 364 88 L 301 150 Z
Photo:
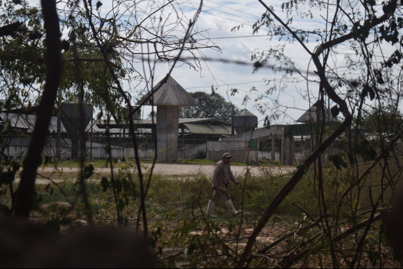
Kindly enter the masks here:
M 80 105 L 75 102 L 62 103 L 61 119 L 67 133 L 71 138 L 71 158 L 77 158 L 77 154 L 81 145 L 79 145 L 80 132 L 79 128 L 85 128 L 88 126 L 89 121 L 92 119 L 92 106 L 83 104 L 83 111 L 80 113 Z M 77 127 L 76 127 L 77 126 Z

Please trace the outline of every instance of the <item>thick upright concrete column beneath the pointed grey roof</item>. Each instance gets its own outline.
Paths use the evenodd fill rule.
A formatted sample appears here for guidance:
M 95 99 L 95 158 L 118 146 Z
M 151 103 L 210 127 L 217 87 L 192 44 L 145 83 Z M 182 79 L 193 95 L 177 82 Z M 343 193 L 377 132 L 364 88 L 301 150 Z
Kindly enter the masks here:
M 178 159 L 179 106 L 157 106 L 157 161 Z

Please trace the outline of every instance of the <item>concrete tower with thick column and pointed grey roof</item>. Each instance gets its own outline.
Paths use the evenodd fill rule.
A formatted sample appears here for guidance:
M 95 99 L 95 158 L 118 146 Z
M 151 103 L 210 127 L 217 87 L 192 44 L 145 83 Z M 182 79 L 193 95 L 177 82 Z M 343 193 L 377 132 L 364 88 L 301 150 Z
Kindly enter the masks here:
M 153 90 L 159 86 L 153 96 L 157 106 L 157 161 L 177 161 L 179 106 L 199 106 L 199 103 L 169 74 Z

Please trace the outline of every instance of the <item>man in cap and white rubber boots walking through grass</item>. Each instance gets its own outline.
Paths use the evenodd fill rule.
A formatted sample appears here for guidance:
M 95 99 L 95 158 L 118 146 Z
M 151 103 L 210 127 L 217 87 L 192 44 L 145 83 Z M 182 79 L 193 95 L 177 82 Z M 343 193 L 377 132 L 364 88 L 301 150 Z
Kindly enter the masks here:
M 235 179 L 234 175 L 231 171 L 231 154 L 224 153 L 222 155 L 221 161 L 216 163 L 214 166 L 214 173 L 213 173 L 213 189 L 214 194 L 213 198 L 208 201 L 207 206 L 207 215 L 213 216 L 214 211 L 214 202 L 220 200 L 224 200 L 225 205 L 227 206 L 228 210 L 234 215 L 239 215 L 242 213 L 242 210 L 236 211 L 234 205 L 231 201 L 231 196 L 229 194 L 229 190 L 231 188 L 231 181 L 238 185 L 239 182 Z

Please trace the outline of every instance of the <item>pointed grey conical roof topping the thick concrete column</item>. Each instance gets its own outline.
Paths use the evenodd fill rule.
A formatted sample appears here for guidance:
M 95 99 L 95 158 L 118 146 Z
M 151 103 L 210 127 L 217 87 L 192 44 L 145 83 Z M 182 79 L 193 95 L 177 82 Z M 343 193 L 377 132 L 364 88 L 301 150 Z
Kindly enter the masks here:
M 166 74 L 166 76 L 154 86 L 153 90 L 159 86 L 160 88 L 154 93 L 154 105 L 199 106 L 195 98 L 169 74 Z M 149 102 L 148 105 L 151 105 L 151 102 Z

